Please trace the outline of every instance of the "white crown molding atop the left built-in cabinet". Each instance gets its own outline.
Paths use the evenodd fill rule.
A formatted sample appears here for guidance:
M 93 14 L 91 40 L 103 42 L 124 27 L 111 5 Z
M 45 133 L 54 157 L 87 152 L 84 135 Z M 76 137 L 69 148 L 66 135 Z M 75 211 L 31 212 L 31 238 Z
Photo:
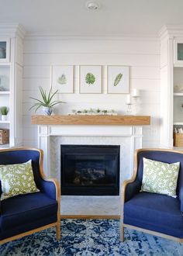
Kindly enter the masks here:
M 26 35 L 26 29 L 18 23 L 1 23 L 0 24 L 1 36 L 20 36 L 22 39 Z

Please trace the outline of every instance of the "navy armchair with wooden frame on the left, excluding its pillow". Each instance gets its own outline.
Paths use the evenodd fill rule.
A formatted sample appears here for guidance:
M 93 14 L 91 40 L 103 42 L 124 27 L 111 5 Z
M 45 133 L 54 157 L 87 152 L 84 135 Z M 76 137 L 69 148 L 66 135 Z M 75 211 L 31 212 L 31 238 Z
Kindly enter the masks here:
M 60 239 L 60 185 L 43 174 L 43 150 L 0 150 L 0 164 L 20 164 L 29 159 L 32 159 L 33 175 L 40 192 L 16 195 L 0 202 L 0 244 L 49 227 L 56 227 L 57 239 Z

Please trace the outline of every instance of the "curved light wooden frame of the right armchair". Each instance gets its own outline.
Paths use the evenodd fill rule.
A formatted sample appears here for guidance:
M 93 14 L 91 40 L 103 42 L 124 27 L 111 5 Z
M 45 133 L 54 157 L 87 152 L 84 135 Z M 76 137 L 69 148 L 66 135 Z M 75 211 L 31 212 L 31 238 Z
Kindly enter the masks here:
M 159 233 L 159 232 L 155 232 L 155 231 L 152 231 L 152 230 L 146 230 L 146 229 L 143 229 L 143 228 L 140 228 L 140 227 L 135 227 L 135 226 L 132 226 L 132 225 L 128 225 L 126 223 L 123 223 L 123 208 L 124 208 L 124 203 L 125 203 L 125 195 L 126 195 L 126 186 L 129 184 L 129 183 L 132 183 L 136 180 L 136 175 L 137 175 L 137 167 L 138 167 L 138 159 L 137 159 L 137 155 L 138 153 L 142 152 L 142 151 L 148 151 L 148 150 L 151 150 L 151 151 L 169 151 L 169 152 L 174 152 L 174 153 L 179 153 L 179 154 L 182 154 L 183 155 L 183 151 L 178 151 L 178 150 L 168 150 L 168 149 L 150 149 L 150 148 L 147 148 L 147 149 L 140 149 L 140 150 L 136 150 L 136 152 L 134 153 L 134 168 L 133 168 L 133 176 L 132 178 L 130 178 L 129 180 L 126 180 L 123 182 L 123 187 L 121 189 L 121 199 L 122 199 L 122 206 L 121 206 L 121 216 L 120 216 L 120 238 L 122 241 L 124 241 L 124 228 L 129 228 L 129 229 L 133 229 L 133 230 L 137 230 L 137 231 L 140 231 L 140 232 L 144 232 L 144 233 L 147 233 L 147 234 L 152 234 L 154 236 L 157 236 L 157 237 L 164 237 L 164 238 L 167 238 L 167 239 L 170 239 L 170 240 L 175 240 L 179 243 L 183 243 L 183 239 L 181 238 L 178 238 L 178 237 L 172 237 L 170 235 L 167 235 L 167 234 L 162 234 L 162 233 Z

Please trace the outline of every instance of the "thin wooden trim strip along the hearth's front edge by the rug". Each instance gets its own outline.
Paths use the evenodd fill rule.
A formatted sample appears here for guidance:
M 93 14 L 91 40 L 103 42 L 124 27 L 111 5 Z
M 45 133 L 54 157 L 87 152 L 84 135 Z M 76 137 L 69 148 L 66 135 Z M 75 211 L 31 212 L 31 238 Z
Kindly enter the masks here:
M 61 215 L 61 219 L 105 219 L 119 220 L 120 215 Z

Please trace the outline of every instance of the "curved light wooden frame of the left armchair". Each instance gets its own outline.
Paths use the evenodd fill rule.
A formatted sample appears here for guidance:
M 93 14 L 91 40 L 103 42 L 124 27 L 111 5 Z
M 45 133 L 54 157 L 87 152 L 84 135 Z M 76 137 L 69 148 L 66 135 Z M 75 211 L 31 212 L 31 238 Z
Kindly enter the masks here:
M 18 235 L 13 236 L 13 237 L 8 237 L 4 240 L 0 240 L 0 244 L 5 244 L 9 241 L 16 240 L 16 239 L 19 239 L 19 238 L 22 238 L 22 237 L 26 237 L 26 236 L 31 235 L 33 233 L 39 232 L 41 230 L 46 230 L 47 228 L 50 228 L 50 227 L 56 227 L 57 240 L 60 240 L 60 184 L 57 181 L 57 179 L 47 178 L 44 175 L 44 172 L 43 172 L 43 150 L 36 149 L 36 148 L 31 148 L 31 147 L 15 147 L 15 148 L 11 148 L 11 149 L 2 149 L 0 151 L 2 152 L 2 151 L 13 151 L 13 150 L 36 150 L 36 151 L 40 152 L 40 164 L 39 164 L 40 165 L 40 177 L 43 178 L 43 181 L 53 182 L 54 185 L 55 185 L 55 188 L 56 188 L 56 200 L 57 200 L 57 205 L 58 205 L 57 206 L 57 222 L 50 223 L 48 225 L 45 225 L 43 227 L 39 227 L 39 228 L 36 228 L 36 229 L 33 229 L 33 230 L 29 230 L 25 233 L 18 234 Z

